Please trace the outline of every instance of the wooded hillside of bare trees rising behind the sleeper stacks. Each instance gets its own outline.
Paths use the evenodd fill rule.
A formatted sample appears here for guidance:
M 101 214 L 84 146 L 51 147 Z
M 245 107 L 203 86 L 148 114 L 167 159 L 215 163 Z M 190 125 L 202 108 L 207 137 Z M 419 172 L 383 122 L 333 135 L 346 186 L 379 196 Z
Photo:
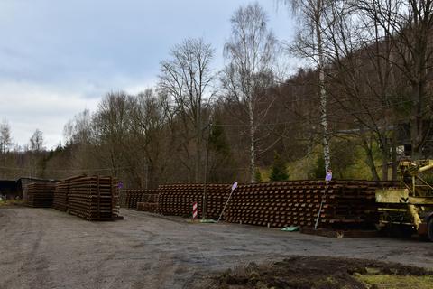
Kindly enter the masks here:
M 108 92 L 65 125 L 56 150 L 43 149 L 41 131 L 14 149 L 4 122 L 0 177 L 101 173 L 150 189 L 266 181 L 274 164 L 288 166 L 282 178 L 332 168 L 336 178 L 387 180 L 401 157 L 433 156 L 433 1 L 277 2 L 299 18 L 293 42 L 275 38 L 260 5 L 240 7 L 223 70 L 213 67 L 223 51 L 186 39 L 152 89 Z M 288 52 L 306 63 L 289 78 Z

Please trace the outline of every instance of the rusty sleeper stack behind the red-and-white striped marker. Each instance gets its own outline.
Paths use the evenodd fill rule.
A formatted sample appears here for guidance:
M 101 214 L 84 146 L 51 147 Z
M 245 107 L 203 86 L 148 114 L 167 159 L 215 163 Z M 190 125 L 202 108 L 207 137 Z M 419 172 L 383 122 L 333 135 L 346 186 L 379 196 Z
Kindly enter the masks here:
M 206 218 L 217 219 L 230 193 L 229 184 L 206 185 Z M 158 210 L 162 215 L 190 217 L 192 205 L 198 203 L 198 218 L 202 217 L 204 184 L 170 184 L 158 187 Z

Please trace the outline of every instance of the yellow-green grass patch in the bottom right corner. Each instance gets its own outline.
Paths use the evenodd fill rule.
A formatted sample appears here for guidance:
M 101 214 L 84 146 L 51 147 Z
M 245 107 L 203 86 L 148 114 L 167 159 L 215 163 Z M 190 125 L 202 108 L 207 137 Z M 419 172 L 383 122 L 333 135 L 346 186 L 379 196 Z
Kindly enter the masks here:
M 355 278 L 374 289 L 431 289 L 433 288 L 433 275 L 360 275 Z

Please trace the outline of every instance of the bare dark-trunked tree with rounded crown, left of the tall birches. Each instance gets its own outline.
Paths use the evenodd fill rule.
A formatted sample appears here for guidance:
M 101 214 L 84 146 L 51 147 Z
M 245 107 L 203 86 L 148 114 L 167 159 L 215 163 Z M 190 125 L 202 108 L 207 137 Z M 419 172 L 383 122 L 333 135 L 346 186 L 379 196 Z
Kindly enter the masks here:
M 194 180 L 199 182 L 203 130 L 208 123 L 206 112 L 213 96 L 210 89 L 215 76 L 210 63 L 214 50 L 203 39 L 187 39 L 171 49 L 170 56 L 170 60 L 161 61 L 160 88 L 172 99 L 181 119 L 184 129 L 181 145 L 187 154 L 189 139 L 194 140 Z M 187 162 L 184 164 L 189 167 Z

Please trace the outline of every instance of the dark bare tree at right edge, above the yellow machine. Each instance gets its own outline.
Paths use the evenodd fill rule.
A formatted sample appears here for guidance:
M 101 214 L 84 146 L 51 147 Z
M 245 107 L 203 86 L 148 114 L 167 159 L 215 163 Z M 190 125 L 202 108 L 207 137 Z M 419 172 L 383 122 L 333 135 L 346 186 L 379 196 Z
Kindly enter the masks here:
M 390 57 L 383 59 L 401 72 L 401 80 L 409 88 L 402 91 L 401 100 L 406 104 L 403 108 L 409 107 L 411 153 L 418 159 L 433 125 L 428 84 L 433 57 L 433 1 L 371 0 L 359 1 L 356 7 L 365 19 L 378 23 L 382 38 L 392 44 Z

